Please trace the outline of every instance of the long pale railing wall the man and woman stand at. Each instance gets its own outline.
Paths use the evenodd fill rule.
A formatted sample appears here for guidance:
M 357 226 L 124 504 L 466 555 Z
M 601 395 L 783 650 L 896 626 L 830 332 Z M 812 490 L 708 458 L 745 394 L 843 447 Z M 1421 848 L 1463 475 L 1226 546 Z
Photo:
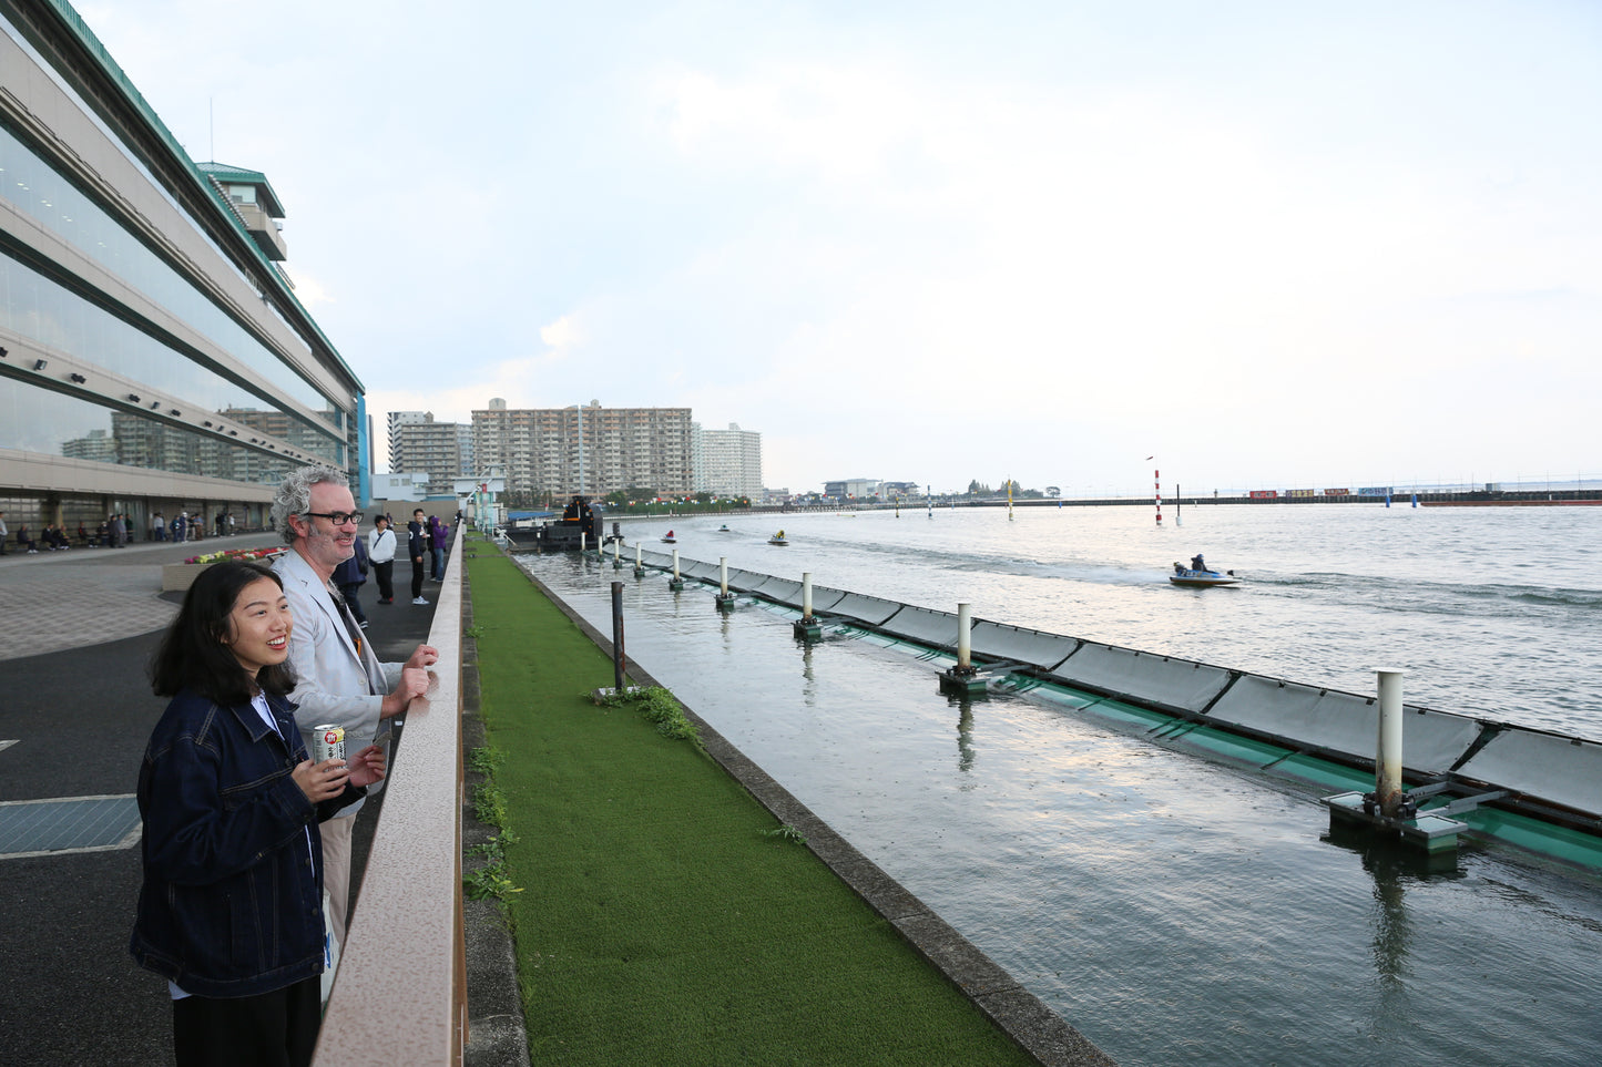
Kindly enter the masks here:
M 460 1064 L 468 1030 L 461 918 L 461 546 L 428 644 L 436 682 L 407 708 L 367 873 L 317 1038 L 317 1067 Z

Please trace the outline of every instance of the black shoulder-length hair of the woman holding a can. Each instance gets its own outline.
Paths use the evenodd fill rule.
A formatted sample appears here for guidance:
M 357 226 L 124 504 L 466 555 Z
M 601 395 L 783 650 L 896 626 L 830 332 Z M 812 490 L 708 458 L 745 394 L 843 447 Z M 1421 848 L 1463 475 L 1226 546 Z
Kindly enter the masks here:
M 157 697 L 194 689 L 216 703 L 235 705 L 250 702 L 258 687 L 280 697 L 295 687 L 288 660 L 263 666 L 252 681 L 229 646 L 223 644 L 234 636 L 229 617 L 239 594 L 261 578 L 272 578 L 284 588 L 274 572 L 237 559 L 211 564 L 195 577 L 184 593 L 178 618 L 167 628 L 162 647 L 151 660 L 151 689 Z

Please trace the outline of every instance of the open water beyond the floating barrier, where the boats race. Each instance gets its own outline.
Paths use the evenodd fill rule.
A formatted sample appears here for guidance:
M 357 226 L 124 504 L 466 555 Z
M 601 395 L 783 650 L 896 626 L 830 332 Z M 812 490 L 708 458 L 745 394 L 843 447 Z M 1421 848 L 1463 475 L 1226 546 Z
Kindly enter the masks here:
M 1004 508 L 625 524 L 682 559 L 1602 740 L 1602 508 Z M 766 538 L 785 525 L 790 545 Z M 1177 590 L 1205 551 L 1245 585 Z

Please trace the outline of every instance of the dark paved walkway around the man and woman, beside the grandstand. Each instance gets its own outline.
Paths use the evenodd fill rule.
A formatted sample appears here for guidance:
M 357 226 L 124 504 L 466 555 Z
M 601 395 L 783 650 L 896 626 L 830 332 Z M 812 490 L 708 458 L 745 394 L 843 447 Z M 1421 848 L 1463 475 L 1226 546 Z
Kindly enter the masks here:
M 258 534 L 0 558 L 0 803 L 131 795 L 165 707 L 144 674 L 176 614 L 162 564 L 274 543 Z M 372 583 L 362 599 L 381 658 L 426 638 L 433 606 L 378 607 Z M 357 820 L 359 864 L 372 822 Z M 171 1062 L 167 984 L 128 956 L 138 888 L 138 848 L 0 857 L 0 1062 Z

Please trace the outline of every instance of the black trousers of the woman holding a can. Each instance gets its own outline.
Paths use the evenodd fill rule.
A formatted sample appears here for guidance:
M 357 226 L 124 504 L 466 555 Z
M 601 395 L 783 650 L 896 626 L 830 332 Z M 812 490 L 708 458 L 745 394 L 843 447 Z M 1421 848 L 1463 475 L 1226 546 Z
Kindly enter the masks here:
M 178 1067 L 308 1067 L 319 1025 L 319 976 L 256 997 L 173 1001 Z

